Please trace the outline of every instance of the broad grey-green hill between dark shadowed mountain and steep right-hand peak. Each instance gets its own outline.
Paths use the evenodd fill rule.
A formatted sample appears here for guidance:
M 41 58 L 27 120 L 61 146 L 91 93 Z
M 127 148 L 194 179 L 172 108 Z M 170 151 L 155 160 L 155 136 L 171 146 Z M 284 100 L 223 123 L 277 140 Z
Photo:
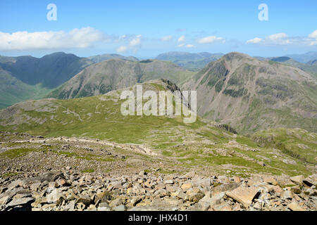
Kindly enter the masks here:
M 106 94 L 109 91 L 132 86 L 151 79 L 170 79 L 180 84 L 195 72 L 181 68 L 174 63 L 160 60 L 132 62 L 111 59 L 90 65 L 75 77 L 49 94 L 50 98 L 79 98 Z

